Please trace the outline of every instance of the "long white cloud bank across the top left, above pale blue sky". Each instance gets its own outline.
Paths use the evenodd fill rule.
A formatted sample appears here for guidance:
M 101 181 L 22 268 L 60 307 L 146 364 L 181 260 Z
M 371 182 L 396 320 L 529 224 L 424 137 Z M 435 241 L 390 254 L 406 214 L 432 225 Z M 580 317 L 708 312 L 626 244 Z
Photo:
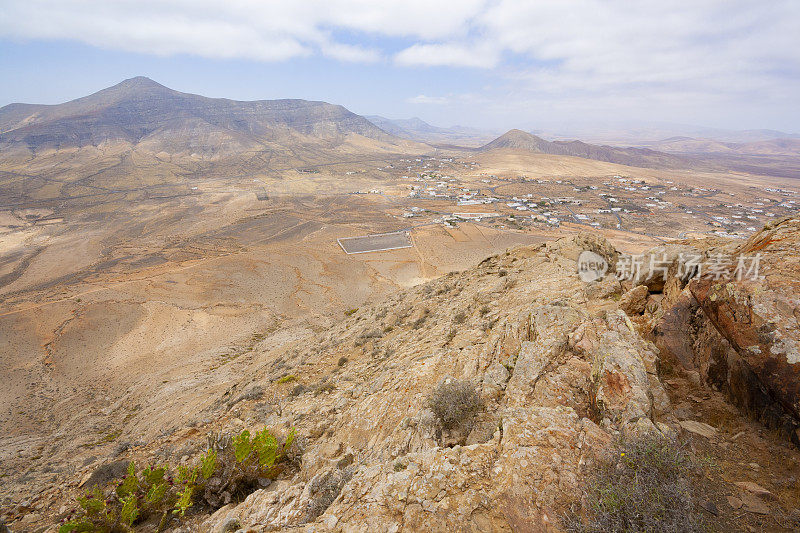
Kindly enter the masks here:
M 382 51 L 332 30 L 411 39 L 461 35 L 483 0 L 5 0 L 0 36 L 68 39 L 157 55 L 280 61 L 320 53 L 374 62 Z

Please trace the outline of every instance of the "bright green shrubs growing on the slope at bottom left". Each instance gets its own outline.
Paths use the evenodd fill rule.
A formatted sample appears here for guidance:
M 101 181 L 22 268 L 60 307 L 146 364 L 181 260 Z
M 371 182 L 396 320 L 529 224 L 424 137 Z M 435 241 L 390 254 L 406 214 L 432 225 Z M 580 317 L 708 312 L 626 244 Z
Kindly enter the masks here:
M 234 436 L 211 435 L 208 450 L 191 468 L 148 465 L 140 469 L 131 461 L 112 491 L 104 493 L 95 486 L 79 497 L 79 508 L 58 532 L 127 532 L 135 524 L 155 520 L 162 531 L 192 507 L 219 508 L 226 499 L 244 496 L 262 480 L 277 476 L 291 459 L 294 439 L 294 429 L 282 445 L 266 429 L 252 439 L 245 430 Z

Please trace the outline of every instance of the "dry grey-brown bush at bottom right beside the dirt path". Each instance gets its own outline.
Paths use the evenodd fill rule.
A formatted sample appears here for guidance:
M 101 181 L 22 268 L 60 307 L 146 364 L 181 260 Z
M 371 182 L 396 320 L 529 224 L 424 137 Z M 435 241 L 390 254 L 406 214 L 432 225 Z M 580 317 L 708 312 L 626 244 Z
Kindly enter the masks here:
M 691 455 L 675 440 L 643 437 L 600 458 L 586 491 L 586 516 L 565 517 L 576 533 L 706 530 Z

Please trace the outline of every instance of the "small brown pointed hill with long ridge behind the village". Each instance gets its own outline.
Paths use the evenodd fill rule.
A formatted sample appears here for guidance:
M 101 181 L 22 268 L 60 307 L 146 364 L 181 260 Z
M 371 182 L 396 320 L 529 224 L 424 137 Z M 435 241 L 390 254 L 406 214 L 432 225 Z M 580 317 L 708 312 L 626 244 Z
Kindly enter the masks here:
M 618 148 L 613 146 L 598 146 L 581 141 L 546 141 L 531 133 L 522 130 L 510 130 L 492 142 L 482 146 L 481 151 L 510 148 L 526 150 L 529 152 L 583 157 L 596 161 L 606 161 L 620 165 L 637 167 L 662 167 L 683 166 L 686 161 L 682 158 L 657 152 L 647 148 Z

